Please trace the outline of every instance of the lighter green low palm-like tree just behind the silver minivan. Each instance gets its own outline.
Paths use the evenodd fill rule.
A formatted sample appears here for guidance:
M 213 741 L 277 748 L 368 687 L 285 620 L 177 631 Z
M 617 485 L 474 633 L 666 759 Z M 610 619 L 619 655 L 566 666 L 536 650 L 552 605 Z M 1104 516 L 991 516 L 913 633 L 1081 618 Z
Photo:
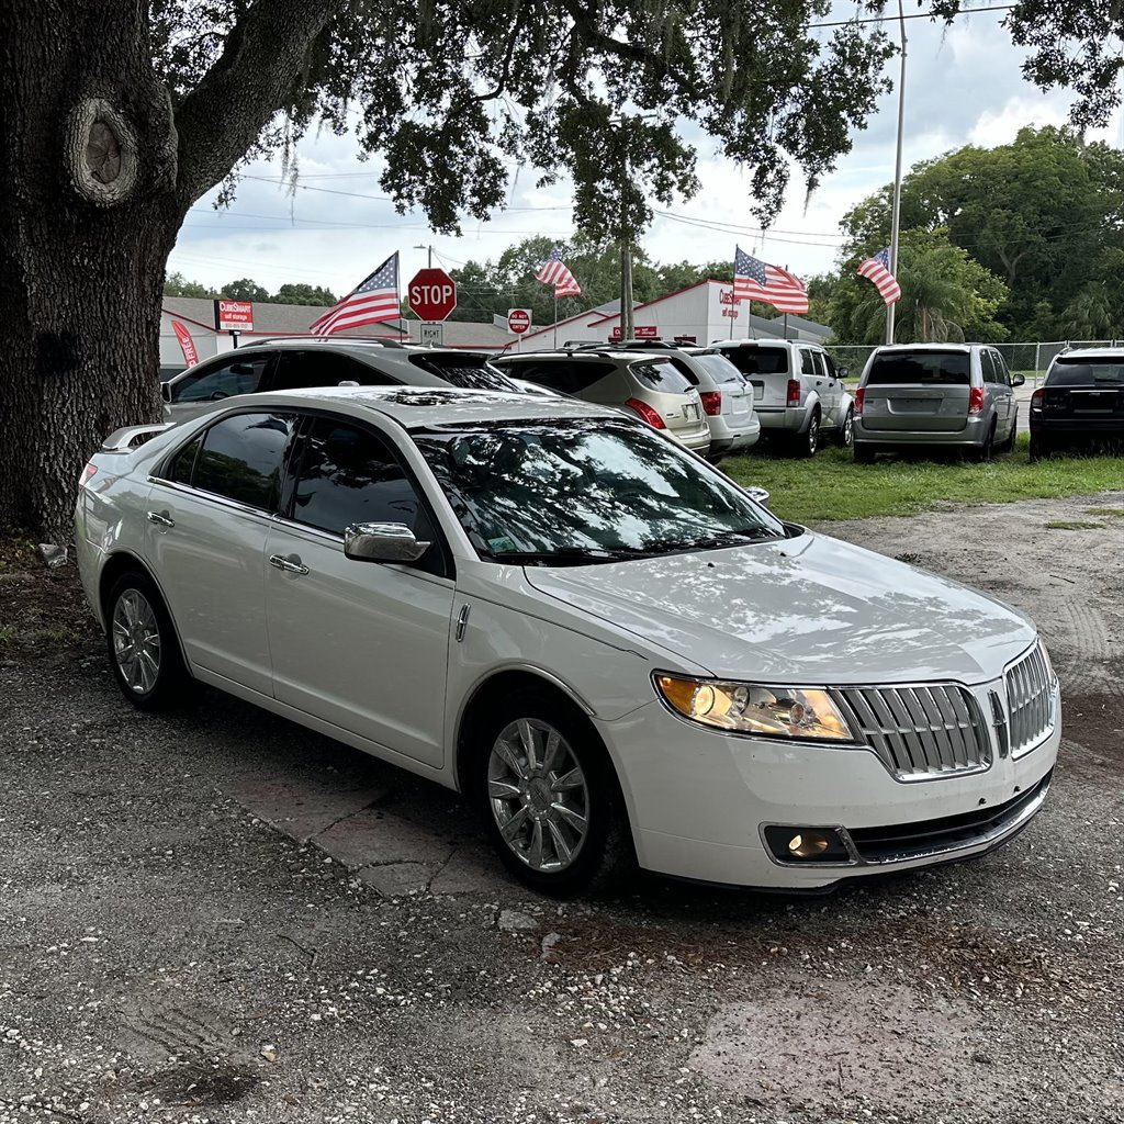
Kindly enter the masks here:
M 885 341 L 886 305 L 874 285 L 842 271 L 828 300 L 828 324 L 841 343 Z M 948 343 L 1006 337 L 994 319 L 1007 288 L 994 273 L 952 245 L 943 229 L 906 230 L 898 257 L 901 299 L 895 312 L 896 343 Z

